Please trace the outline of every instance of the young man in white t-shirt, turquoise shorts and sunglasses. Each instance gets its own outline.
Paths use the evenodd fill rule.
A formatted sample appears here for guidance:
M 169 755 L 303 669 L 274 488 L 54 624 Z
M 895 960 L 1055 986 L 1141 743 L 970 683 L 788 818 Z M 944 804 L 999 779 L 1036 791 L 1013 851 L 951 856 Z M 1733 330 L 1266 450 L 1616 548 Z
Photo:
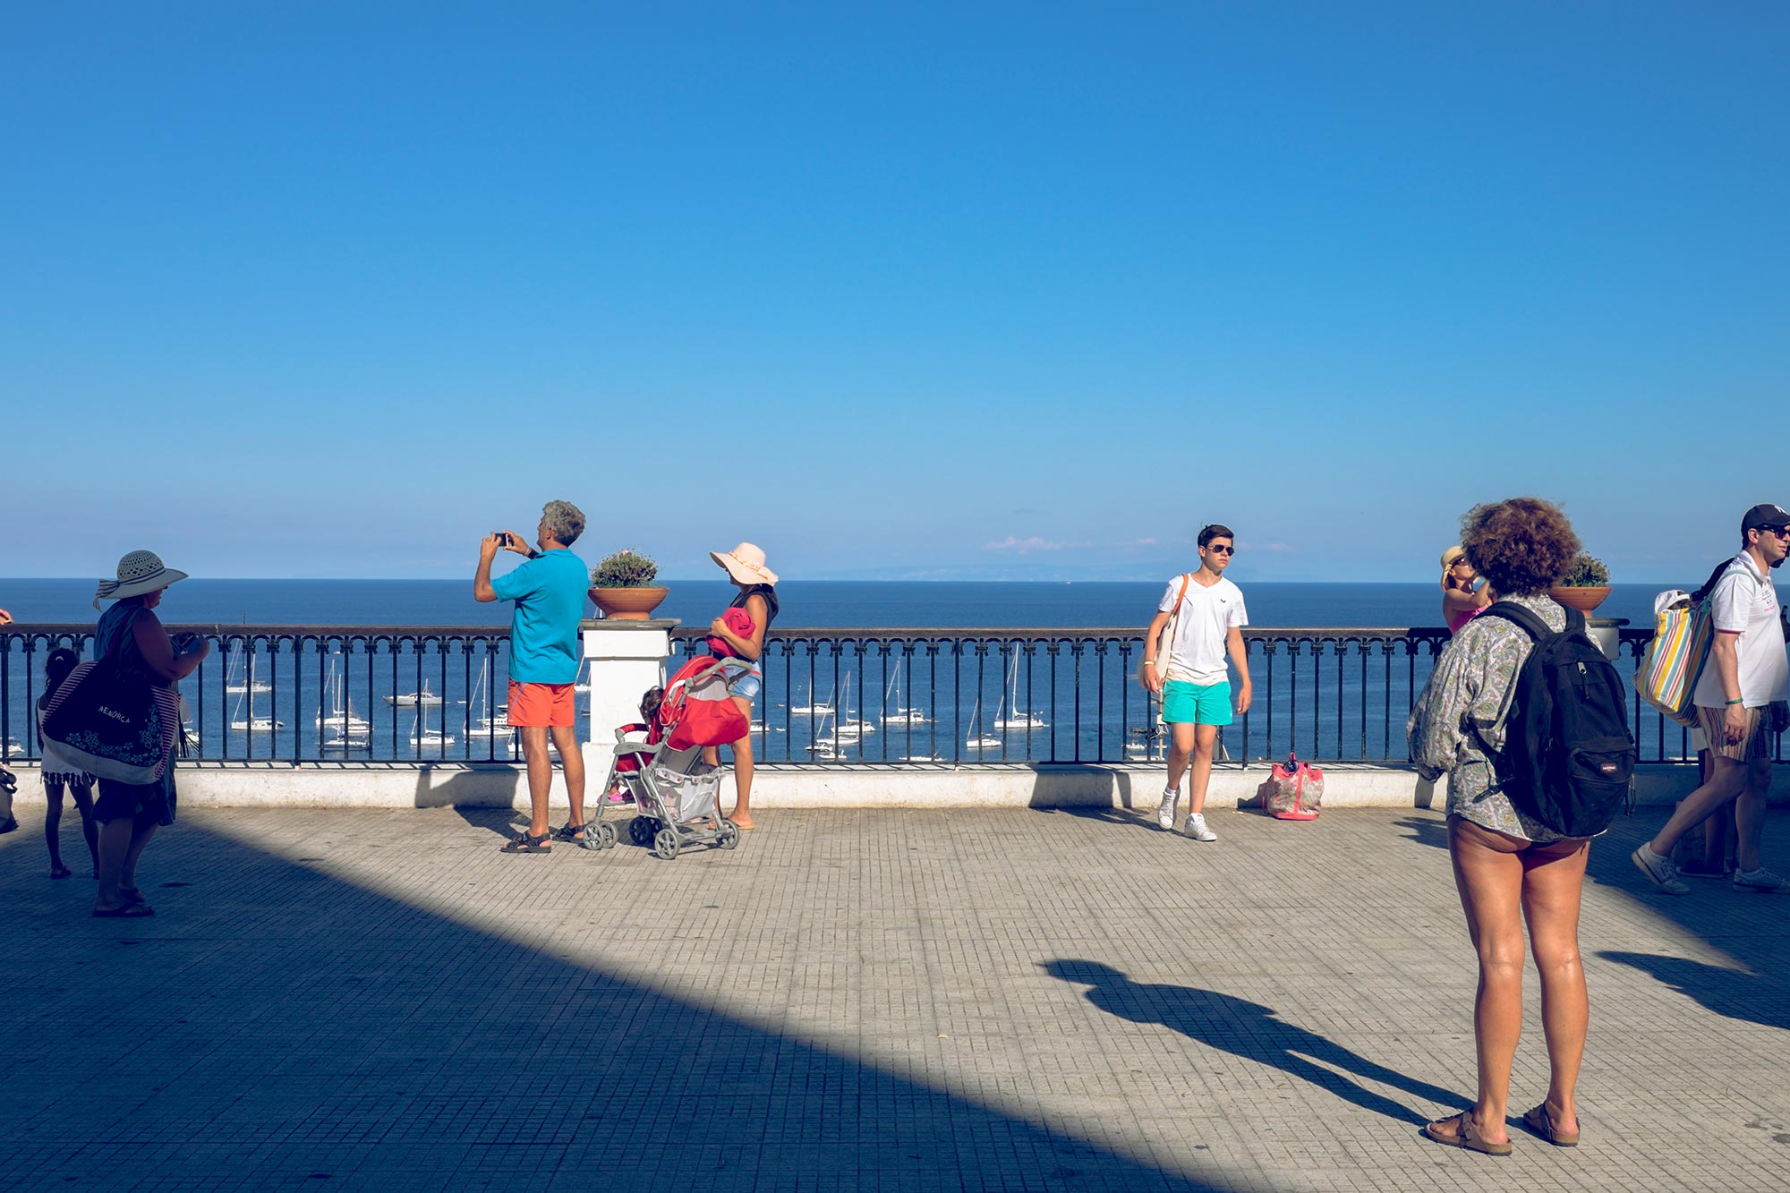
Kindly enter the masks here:
M 1224 579 L 1233 554 L 1230 527 L 1201 530 L 1199 570 L 1169 580 L 1156 616 L 1144 631 L 1144 684 L 1162 699 L 1162 720 L 1169 725 L 1169 785 L 1162 790 L 1156 822 L 1174 829 L 1181 774 L 1192 763 L 1187 835 L 1194 840 L 1219 838 L 1206 828 L 1205 817 L 1212 751 L 1219 729 L 1232 724 L 1232 711 L 1249 711 L 1249 663 L 1242 654 L 1242 627 L 1249 623 L 1249 614 L 1242 607 L 1242 589 Z M 1158 643 L 1176 605 L 1174 641 Z M 1237 665 L 1235 702 L 1224 672 L 1226 654 Z

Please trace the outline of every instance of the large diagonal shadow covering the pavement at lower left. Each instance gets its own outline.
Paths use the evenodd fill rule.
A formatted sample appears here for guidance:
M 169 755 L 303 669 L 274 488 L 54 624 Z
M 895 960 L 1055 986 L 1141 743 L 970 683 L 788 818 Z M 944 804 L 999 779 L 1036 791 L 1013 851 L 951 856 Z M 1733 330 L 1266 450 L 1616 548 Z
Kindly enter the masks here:
M 156 849 L 195 883 L 145 921 L 5 851 L 0 1188 L 1214 1188 L 184 819 Z

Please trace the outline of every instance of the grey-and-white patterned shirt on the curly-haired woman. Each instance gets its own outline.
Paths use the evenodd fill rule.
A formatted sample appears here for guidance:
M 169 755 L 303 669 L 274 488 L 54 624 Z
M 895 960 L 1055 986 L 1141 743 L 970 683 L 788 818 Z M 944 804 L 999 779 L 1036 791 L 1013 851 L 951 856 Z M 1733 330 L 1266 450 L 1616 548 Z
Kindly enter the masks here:
M 1505 600 L 1539 616 L 1550 631 L 1566 629 L 1566 611 L 1545 593 Z M 1511 804 L 1486 752 L 1504 749 L 1505 706 L 1532 647 L 1529 634 L 1504 618 L 1479 616 L 1462 625 L 1436 661 L 1405 734 L 1411 761 L 1425 779 L 1448 776 L 1448 815 L 1545 844 L 1561 835 Z

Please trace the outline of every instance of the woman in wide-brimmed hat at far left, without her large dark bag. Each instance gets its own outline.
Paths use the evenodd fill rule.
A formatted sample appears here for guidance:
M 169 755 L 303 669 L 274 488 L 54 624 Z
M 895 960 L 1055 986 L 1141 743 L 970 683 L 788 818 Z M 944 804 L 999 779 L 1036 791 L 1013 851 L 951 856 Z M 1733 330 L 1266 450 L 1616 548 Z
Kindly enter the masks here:
M 93 607 L 116 602 L 100 614 L 93 632 L 98 657 L 122 656 L 140 668 L 152 684 L 172 688 L 204 661 L 211 643 L 197 634 L 170 636 L 156 616 L 156 605 L 170 584 L 184 580 L 184 571 L 165 568 L 154 552 L 131 552 L 118 561 L 118 579 L 100 580 Z M 102 919 L 154 915 L 136 885 L 136 863 L 143 847 L 163 824 L 174 824 L 174 763 L 154 783 L 116 783 L 102 777 L 93 819 L 100 826 L 100 887 L 93 914 Z

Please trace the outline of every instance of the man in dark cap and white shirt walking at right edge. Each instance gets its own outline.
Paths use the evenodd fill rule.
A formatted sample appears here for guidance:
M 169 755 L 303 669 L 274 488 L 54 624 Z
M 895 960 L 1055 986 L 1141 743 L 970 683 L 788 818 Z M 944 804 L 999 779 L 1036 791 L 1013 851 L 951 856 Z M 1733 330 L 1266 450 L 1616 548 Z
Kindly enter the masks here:
M 1634 865 L 1665 894 L 1690 894 L 1670 860 L 1679 837 L 1731 799 L 1740 829 L 1735 890 L 1790 887 L 1760 865 L 1765 795 L 1772 786 L 1770 706 L 1785 700 L 1790 690 L 1790 659 L 1772 586 L 1772 568 L 1783 564 L 1786 552 L 1790 512 L 1754 505 L 1740 519 L 1740 554 L 1709 591 L 1715 639 L 1692 699 L 1713 770 L 1708 783 L 1684 797 L 1659 835 L 1632 854 Z

